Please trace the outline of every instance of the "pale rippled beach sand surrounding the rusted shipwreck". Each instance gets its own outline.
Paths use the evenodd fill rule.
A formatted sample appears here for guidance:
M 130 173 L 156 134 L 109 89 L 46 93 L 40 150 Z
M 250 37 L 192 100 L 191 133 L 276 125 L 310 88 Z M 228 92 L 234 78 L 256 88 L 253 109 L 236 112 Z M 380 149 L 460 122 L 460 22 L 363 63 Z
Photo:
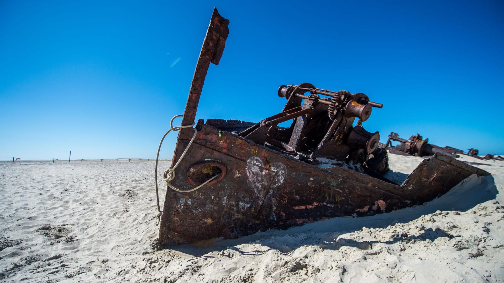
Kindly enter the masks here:
M 390 159 L 397 180 L 422 160 Z M 0 163 L 0 280 L 504 281 L 504 162 L 461 160 L 493 175 L 389 214 L 161 251 L 153 162 Z

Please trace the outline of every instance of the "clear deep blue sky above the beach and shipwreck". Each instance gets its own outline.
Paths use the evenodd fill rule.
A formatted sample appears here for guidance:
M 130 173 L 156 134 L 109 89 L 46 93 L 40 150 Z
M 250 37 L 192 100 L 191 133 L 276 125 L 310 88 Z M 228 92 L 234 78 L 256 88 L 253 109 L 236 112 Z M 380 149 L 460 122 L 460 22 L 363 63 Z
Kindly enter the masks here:
M 0 1 L 0 160 L 155 158 L 214 7 L 230 32 L 197 118 L 257 122 L 308 82 L 383 103 L 382 142 L 504 154 L 502 1 Z

